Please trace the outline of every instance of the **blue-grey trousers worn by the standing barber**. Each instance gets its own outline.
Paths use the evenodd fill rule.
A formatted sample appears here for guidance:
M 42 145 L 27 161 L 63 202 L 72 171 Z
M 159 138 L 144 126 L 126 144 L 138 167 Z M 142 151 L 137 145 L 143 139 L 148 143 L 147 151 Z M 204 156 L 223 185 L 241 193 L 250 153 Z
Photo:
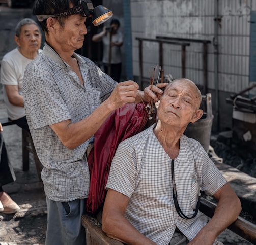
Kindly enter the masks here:
M 84 245 L 86 234 L 81 224 L 86 199 L 55 202 L 46 197 L 47 231 L 46 245 Z

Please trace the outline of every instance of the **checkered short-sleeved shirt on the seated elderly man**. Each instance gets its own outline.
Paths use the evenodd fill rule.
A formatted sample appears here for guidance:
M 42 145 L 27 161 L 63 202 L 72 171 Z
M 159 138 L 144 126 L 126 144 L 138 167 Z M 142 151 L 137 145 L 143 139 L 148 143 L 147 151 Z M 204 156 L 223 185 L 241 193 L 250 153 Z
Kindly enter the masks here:
M 191 241 L 205 223 L 200 212 L 191 220 L 181 218 L 176 212 L 171 159 L 153 133 L 153 127 L 119 145 L 106 188 L 130 198 L 126 218 L 156 244 L 169 244 L 176 226 Z M 227 182 L 200 143 L 185 135 L 180 139 L 174 172 L 179 205 L 190 217 L 200 190 L 213 195 Z

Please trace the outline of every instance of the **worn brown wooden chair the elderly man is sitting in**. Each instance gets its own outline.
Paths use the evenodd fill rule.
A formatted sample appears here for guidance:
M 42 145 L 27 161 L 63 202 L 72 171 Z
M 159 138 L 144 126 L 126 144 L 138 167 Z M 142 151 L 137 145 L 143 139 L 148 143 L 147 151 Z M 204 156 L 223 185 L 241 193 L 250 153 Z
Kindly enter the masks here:
M 200 211 L 206 216 L 212 218 L 216 204 L 201 198 Z M 92 217 L 90 215 L 82 216 L 82 226 L 86 230 L 87 245 L 123 245 L 122 242 L 109 238 L 101 229 L 101 218 Z M 245 240 L 256 244 L 256 225 L 238 217 L 227 229 L 233 231 Z

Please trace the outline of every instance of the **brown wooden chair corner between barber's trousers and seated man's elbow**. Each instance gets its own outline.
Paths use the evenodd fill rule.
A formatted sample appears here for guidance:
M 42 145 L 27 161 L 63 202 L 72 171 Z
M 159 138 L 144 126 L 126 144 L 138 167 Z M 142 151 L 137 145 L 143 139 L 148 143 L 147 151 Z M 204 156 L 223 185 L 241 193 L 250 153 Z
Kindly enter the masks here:
M 123 245 L 122 242 L 111 239 L 101 229 L 101 224 L 94 217 L 82 216 L 82 226 L 86 229 L 87 245 Z

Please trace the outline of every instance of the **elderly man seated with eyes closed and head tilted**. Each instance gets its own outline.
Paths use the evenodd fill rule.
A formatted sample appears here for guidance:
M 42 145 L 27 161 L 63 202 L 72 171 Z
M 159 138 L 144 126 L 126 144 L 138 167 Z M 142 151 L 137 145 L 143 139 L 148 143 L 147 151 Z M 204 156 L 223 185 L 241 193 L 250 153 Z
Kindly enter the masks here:
M 241 204 L 200 143 L 183 135 L 201 118 L 200 103 L 192 81 L 170 82 L 158 122 L 119 145 L 102 215 L 109 237 L 133 245 L 221 244 L 216 238 L 237 219 Z M 198 212 L 201 192 L 218 200 L 207 224 Z

